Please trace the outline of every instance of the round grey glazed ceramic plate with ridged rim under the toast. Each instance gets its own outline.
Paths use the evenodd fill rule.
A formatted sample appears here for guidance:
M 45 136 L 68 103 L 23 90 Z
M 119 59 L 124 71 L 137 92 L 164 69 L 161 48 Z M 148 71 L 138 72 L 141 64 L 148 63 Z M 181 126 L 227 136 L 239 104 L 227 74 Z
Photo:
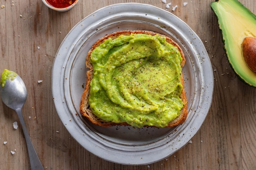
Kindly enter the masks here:
M 104 35 L 121 30 L 149 30 L 175 40 L 183 49 L 189 114 L 174 128 L 99 127 L 79 112 L 86 81 L 86 55 Z M 185 146 L 200 129 L 213 95 L 213 71 L 200 38 L 177 16 L 148 4 L 124 3 L 104 7 L 81 20 L 67 34 L 52 68 L 56 111 L 72 137 L 102 159 L 128 165 L 153 163 Z

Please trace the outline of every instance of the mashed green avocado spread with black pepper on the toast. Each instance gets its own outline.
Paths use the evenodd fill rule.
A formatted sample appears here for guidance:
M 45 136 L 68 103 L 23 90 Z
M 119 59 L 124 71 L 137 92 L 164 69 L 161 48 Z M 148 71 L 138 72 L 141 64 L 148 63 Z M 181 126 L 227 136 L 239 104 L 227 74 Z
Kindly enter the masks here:
M 90 57 L 89 104 L 105 121 L 132 126 L 167 126 L 181 112 L 182 57 L 160 35 L 108 38 Z

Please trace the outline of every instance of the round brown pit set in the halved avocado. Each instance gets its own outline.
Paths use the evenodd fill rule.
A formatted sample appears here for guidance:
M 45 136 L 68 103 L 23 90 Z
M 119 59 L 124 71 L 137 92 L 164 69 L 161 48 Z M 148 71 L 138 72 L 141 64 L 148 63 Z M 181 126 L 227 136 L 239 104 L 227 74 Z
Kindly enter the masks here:
M 242 51 L 247 66 L 256 73 L 256 38 L 245 37 L 242 42 Z

